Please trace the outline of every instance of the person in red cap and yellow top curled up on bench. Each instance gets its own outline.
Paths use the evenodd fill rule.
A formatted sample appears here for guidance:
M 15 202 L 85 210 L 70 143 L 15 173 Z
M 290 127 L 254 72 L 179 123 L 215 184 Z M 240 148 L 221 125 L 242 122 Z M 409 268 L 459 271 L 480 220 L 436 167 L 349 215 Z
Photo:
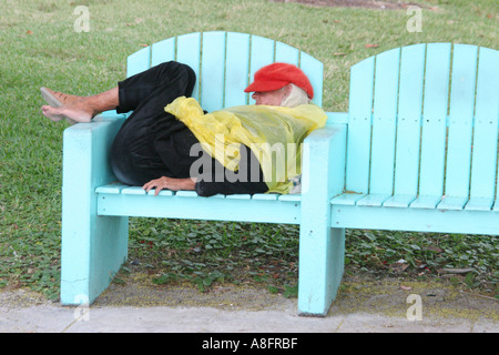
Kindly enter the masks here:
M 189 65 L 170 61 L 96 95 L 42 88 L 49 103 L 42 112 L 52 121 L 88 123 L 103 111 L 133 111 L 114 138 L 110 164 L 120 182 L 156 195 L 164 189 L 201 196 L 292 192 L 302 143 L 327 120 L 310 103 L 305 73 L 287 63 L 266 65 L 244 90 L 255 105 L 212 113 L 191 98 L 195 82 Z

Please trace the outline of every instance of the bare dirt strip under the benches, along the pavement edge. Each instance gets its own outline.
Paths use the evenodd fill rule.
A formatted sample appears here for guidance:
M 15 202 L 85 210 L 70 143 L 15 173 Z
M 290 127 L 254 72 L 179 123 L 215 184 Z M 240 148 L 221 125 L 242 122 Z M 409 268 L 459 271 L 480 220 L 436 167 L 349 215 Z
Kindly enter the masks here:
M 398 277 L 377 280 L 365 274 L 344 277 L 329 314 L 361 312 L 404 316 L 410 294 L 421 297 L 428 316 L 499 320 L 499 303 L 491 297 L 462 292 L 444 282 L 415 282 Z M 257 284 L 221 284 L 202 293 L 186 283 L 156 286 L 149 281 L 147 275 L 138 273 L 130 275 L 125 284 L 112 283 L 94 306 L 207 306 L 225 311 L 282 311 L 296 310 L 296 297 L 285 298 L 282 294 L 272 294 Z

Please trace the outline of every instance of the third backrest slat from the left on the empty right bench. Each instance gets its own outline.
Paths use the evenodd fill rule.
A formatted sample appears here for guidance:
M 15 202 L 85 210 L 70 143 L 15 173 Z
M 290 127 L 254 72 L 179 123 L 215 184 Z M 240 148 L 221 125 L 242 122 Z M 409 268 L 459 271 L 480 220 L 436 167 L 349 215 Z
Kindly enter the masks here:
M 425 44 L 409 45 L 401 50 L 394 189 L 396 195 L 416 196 L 418 193 L 425 54 Z M 405 204 L 407 197 L 403 200 Z

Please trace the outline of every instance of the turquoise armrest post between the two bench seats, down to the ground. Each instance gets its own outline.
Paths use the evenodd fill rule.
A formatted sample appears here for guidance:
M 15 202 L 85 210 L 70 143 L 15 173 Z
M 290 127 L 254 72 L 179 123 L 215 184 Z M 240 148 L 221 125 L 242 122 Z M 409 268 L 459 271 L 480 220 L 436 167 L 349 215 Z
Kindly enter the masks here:
M 346 125 L 314 131 L 304 144 L 298 314 L 325 316 L 342 281 L 345 230 L 332 229 L 330 199 L 343 192 Z M 337 176 L 324 179 L 324 176 Z

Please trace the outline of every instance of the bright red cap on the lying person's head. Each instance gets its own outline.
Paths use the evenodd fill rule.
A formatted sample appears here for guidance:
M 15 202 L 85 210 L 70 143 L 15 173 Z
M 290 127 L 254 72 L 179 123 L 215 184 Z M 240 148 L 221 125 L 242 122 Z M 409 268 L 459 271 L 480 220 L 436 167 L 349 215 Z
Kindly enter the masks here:
M 310 100 L 314 98 L 314 89 L 307 75 L 299 68 L 287 63 L 273 63 L 261 68 L 255 73 L 253 83 L 244 89 L 244 92 L 274 91 L 291 83 L 305 90 Z

